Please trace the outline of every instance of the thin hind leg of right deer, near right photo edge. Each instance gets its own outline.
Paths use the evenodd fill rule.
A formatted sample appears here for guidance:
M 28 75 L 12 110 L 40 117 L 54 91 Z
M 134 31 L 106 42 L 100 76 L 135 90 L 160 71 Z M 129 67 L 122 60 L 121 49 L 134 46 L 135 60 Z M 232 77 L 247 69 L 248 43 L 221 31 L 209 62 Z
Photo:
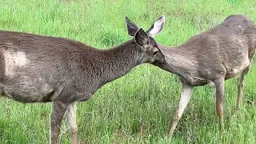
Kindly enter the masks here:
M 239 112 L 241 103 L 242 103 L 242 90 L 243 90 L 243 79 L 245 78 L 246 74 L 250 70 L 250 66 L 247 66 L 245 70 L 242 70 L 238 78 L 238 100 L 237 100 L 237 112 Z

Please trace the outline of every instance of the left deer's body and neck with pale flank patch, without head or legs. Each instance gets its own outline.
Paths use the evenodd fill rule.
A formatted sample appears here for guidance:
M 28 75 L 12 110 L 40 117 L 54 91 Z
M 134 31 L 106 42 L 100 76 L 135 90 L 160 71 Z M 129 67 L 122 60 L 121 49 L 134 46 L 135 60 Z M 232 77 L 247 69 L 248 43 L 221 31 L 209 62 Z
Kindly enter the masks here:
M 69 39 L 34 34 L 0 31 L 0 38 L 5 74 L 1 91 L 19 102 L 83 101 L 142 62 L 138 49 L 129 49 L 136 46 L 133 40 L 97 50 Z M 19 66 L 22 58 L 26 63 Z

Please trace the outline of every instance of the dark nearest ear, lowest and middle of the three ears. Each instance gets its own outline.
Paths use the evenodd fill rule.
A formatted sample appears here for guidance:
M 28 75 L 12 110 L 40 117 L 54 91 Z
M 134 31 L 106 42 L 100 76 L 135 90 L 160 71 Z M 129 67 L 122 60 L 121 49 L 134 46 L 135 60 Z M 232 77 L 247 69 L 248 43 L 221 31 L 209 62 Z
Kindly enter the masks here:
M 134 37 L 135 37 L 135 42 L 139 46 L 146 47 L 149 45 L 149 37 L 147 36 L 146 32 L 142 28 L 138 29 Z

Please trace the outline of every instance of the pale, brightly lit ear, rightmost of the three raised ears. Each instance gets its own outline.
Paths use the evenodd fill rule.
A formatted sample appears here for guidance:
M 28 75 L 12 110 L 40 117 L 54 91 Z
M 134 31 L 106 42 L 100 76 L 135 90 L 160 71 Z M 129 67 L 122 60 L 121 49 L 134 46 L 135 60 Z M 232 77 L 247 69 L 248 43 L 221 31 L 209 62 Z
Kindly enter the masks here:
M 162 17 L 158 18 L 158 20 L 154 22 L 150 29 L 146 31 L 146 34 L 149 34 L 151 37 L 154 37 L 154 35 L 159 34 L 163 30 L 163 27 L 165 26 L 165 21 L 166 18 L 164 15 L 162 15 Z

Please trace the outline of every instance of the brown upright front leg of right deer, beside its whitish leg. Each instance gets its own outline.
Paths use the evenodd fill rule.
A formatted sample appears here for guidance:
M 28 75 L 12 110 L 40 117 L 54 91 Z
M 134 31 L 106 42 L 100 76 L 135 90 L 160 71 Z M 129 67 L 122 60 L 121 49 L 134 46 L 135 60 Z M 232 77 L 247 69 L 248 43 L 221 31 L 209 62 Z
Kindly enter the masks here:
M 216 112 L 218 114 L 219 127 L 220 130 L 224 131 L 224 122 L 223 122 L 223 101 L 224 101 L 224 78 L 219 78 L 214 82 L 215 85 L 215 96 L 216 96 Z

